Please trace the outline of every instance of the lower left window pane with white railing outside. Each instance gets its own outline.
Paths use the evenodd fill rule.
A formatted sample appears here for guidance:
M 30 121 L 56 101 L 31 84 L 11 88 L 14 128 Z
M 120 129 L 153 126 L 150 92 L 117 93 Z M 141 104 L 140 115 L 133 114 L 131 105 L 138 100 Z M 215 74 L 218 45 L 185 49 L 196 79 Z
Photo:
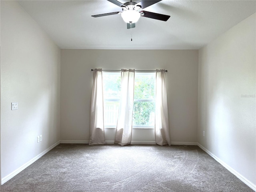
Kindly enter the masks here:
M 119 101 L 104 102 L 104 126 L 116 126 Z

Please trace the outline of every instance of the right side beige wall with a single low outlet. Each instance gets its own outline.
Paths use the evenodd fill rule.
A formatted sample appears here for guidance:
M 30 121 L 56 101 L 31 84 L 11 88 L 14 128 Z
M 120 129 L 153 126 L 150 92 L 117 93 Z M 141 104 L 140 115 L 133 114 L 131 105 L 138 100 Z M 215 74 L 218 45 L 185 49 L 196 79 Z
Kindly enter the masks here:
M 255 22 L 253 14 L 200 49 L 198 72 L 198 143 L 254 187 Z

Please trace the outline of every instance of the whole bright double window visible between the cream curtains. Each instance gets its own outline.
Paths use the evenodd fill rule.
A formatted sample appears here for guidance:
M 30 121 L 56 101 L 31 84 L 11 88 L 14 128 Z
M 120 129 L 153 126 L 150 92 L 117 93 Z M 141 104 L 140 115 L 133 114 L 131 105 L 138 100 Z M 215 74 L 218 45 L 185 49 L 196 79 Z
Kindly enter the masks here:
M 115 128 L 121 92 L 120 72 L 103 72 L 104 126 Z M 135 73 L 133 128 L 154 128 L 155 73 Z

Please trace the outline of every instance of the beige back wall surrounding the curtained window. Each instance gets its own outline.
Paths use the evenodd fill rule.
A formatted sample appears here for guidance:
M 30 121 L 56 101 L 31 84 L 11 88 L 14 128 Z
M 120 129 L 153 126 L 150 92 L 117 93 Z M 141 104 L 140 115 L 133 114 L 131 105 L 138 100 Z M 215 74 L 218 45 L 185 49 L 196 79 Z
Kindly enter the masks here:
M 167 69 L 171 141 L 197 141 L 198 50 L 61 50 L 61 140 L 89 140 L 94 68 Z M 154 130 L 134 129 L 132 140 L 154 142 Z

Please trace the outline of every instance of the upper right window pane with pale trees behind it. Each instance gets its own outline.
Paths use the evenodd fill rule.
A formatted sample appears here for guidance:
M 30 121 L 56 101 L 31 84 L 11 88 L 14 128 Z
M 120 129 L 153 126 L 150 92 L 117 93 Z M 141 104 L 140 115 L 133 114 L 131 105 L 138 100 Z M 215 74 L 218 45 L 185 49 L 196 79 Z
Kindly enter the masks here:
M 134 99 L 155 98 L 155 73 L 136 73 L 134 82 Z

